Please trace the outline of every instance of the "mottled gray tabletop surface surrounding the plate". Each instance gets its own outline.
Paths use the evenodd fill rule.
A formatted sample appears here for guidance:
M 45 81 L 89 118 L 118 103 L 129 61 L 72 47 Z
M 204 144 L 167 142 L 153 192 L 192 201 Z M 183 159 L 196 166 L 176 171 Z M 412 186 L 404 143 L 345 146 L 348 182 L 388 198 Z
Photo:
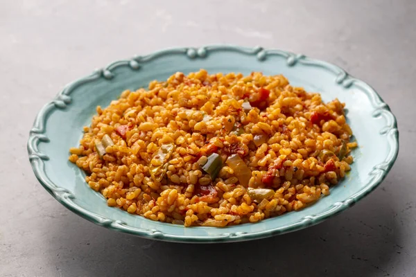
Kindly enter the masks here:
M 416 1 L 140 2 L 0 0 L 0 276 L 416 276 L 416 179 L 409 165 Z M 28 130 L 64 84 L 113 60 L 213 43 L 304 53 L 372 84 L 400 131 L 399 158 L 383 184 L 303 231 L 181 245 L 96 226 L 37 183 Z

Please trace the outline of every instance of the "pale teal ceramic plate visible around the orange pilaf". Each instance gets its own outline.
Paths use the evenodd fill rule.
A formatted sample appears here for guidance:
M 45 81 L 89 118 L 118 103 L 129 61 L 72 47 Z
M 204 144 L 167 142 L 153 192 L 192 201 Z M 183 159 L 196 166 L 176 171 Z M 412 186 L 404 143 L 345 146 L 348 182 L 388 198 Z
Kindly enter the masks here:
M 353 151 L 352 171 L 331 195 L 301 211 L 285 213 L 256 224 L 223 229 L 184 228 L 153 222 L 107 206 L 89 188 L 85 174 L 68 161 L 69 148 L 78 145 L 97 105 L 106 107 L 125 89 L 147 87 L 176 71 L 189 73 L 262 71 L 284 74 L 291 84 L 318 91 L 324 101 L 338 98 L 347 105 L 347 120 L 359 147 Z M 399 151 L 399 132 L 388 105 L 365 82 L 338 66 L 286 51 L 239 46 L 172 48 L 131 60 L 114 62 L 67 85 L 35 119 L 28 139 L 28 155 L 40 184 L 74 213 L 101 226 L 173 242 L 237 242 L 304 229 L 344 211 L 374 190 L 388 174 Z

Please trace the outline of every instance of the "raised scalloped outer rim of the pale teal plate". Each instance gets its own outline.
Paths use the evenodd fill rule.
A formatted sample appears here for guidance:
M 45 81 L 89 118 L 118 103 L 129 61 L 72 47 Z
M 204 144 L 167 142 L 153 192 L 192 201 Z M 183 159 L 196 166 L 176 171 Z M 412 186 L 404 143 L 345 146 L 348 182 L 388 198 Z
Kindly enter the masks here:
M 357 87 L 359 87 L 363 93 L 367 94 L 368 98 L 370 99 L 372 108 L 374 108 L 372 118 L 379 118 L 381 116 L 385 119 L 385 127 L 379 131 L 379 134 L 386 136 L 388 145 L 390 146 L 390 150 L 387 154 L 387 157 L 385 157 L 385 160 L 382 163 L 374 166 L 370 171 L 372 179 L 367 181 L 365 187 L 363 187 L 354 195 L 345 199 L 343 202 L 336 202 L 335 204 L 329 206 L 327 209 L 316 215 L 306 215 L 302 217 L 301 220 L 293 224 L 285 224 L 274 229 L 268 229 L 266 231 L 259 231 L 255 233 L 229 233 L 227 232 L 227 228 L 225 228 L 224 233 L 221 235 L 207 236 L 172 235 L 157 229 L 141 229 L 129 226 L 121 220 L 111 220 L 108 217 L 98 215 L 88 211 L 86 208 L 79 206 L 76 204 L 76 202 L 73 202 L 73 199 L 76 197 L 69 190 L 58 186 L 58 184 L 54 184 L 53 181 L 49 179 L 46 171 L 44 170 L 44 162 L 48 161 L 49 157 L 47 157 L 46 154 L 40 152 L 38 145 L 40 143 L 49 142 L 49 139 L 46 136 L 46 121 L 48 116 L 54 109 L 64 109 L 67 107 L 67 105 L 69 105 L 71 102 L 71 91 L 82 86 L 83 84 L 98 80 L 99 78 L 110 80 L 114 77 L 112 71 L 121 66 L 128 66 L 132 70 L 137 70 L 141 68 L 142 64 L 152 62 L 153 60 L 157 60 L 159 57 L 164 57 L 165 55 L 184 54 L 187 55 L 190 60 L 196 60 L 204 59 L 207 57 L 209 52 L 215 51 L 228 51 L 239 53 L 241 55 L 253 55 L 260 62 L 266 60 L 269 55 L 279 55 L 286 58 L 287 66 L 295 66 L 297 63 L 308 66 L 318 66 L 333 73 L 335 82 L 345 87 L 346 89 L 352 84 L 355 84 Z M 112 62 L 111 64 L 105 66 L 103 69 L 98 69 L 84 78 L 80 78 L 67 84 L 64 89 L 62 89 L 62 91 L 60 91 L 55 96 L 53 100 L 44 105 L 44 107 L 42 107 L 42 109 L 40 109 L 38 112 L 35 118 L 35 122 L 33 123 L 33 127 L 29 132 L 27 150 L 28 158 L 31 163 L 33 172 L 35 173 L 35 177 L 40 182 L 40 184 L 42 184 L 42 186 L 63 206 L 68 208 L 73 213 L 76 213 L 77 215 L 80 215 L 81 217 L 89 220 L 90 222 L 104 226 L 108 229 L 113 229 L 115 231 L 121 231 L 123 233 L 129 233 L 132 235 L 138 235 L 142 238 L 150 238 L 155 240 L 166 240 L 171 242 L 237 242 L 242 240 L 268 238 L 272 235 L 304 229 L 306 227 L 323 222 L 329 217 L 332 217 L 333 215 L 344 211 L 350 206 L 353 206 L 356 202 L 363 199 L 363 197 L 377 188 L 388 175 L 388 172 L 390 172 L 390 169 L 395 163 L 399 153 L 399 130 L 397 128 L 397 120 L 395 115 L 392 114 L 390 107 L 388 107 L 388 105 L 383 101 L 381 96 L 379 96 L 379 94 L 372 87 L 370 87 L 369 84 L 352 77 L 352 75 L 341 69 L 339 66 L 329 62 L 324 62 L 322 60 L 315 60 L 313 58 L 307 57 L 306 55 L 282 51 L 276 48 L 262 48 L 261 46 L 254 46 L 249 48 L 244 46 L 220 44 L 201 46 L 199 48 L 166 48 L 161 51 L 150 53 L 148 55 L 136 55 L 129 60 L 119 60 Z

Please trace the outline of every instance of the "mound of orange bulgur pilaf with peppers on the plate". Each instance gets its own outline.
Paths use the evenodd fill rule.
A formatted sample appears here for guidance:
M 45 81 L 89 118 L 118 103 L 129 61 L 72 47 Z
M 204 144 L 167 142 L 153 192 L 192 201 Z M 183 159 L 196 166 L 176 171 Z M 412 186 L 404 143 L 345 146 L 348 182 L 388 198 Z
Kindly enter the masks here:
M 175 73 L 123 91 L 69 160 L 109 206 L 150 220 L 258 222 L 329 195 L 350 170 L 344 104 L 282 75 Z

